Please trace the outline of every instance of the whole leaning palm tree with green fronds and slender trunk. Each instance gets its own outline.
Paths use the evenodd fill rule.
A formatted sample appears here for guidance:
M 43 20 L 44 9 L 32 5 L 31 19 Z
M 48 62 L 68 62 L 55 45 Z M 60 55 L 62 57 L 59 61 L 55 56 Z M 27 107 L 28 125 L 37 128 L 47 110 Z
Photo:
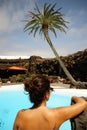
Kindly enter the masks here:
M 35 5 L 36 5 L 34 8 L 35 13 L 29 12 L 30 17 L 28 20 L 25 20 L 26 25 L 24 27 L 24 31 L 29 31 L 29 34 L 33 33 L 34 36 L 36 35 L 36 32 L 39 32 L 39 34 L 44 34 L 44 37 L 46 38 L 49 46 L 51 47 L 54 55 L 56 56 L 56 59 L 58 60 L 66 76 L 68 77 L 68 79 L 71 81 L 73 85 L 78 85 L 78 82 L 75 81 L 75 79 L 72 77 L 72 75 L 65 67 L 64 63 L 61 61 L 49 36 L 49 31 L 53 32 L 56 36 L 55 29 L 61 32 L 65 32 L 65 28 L 67 28 L 66 26 L 67 22 L 63 19 L 63 14 L 61 14 L 60 12 L 61 8 L 54 11 L 56 4 L 52 6 L 51 4 L 45 3 L 43 12 L 41 12 L 37 4 Z

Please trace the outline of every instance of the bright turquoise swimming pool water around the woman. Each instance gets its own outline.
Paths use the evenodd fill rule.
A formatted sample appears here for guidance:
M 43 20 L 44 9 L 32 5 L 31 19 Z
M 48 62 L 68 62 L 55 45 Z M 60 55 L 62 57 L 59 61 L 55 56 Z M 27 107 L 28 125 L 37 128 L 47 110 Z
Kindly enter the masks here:
M 51 93 L 47 106 L 58 107 L 70 105 L 70 96 Z M 0 130 L 12 130 L 17 112 L 23 108 L 29 108 L 32 104 L 24 90 L 0 91 Z M 71 130 L 70 121 L 66 121 L 60 130 Z

